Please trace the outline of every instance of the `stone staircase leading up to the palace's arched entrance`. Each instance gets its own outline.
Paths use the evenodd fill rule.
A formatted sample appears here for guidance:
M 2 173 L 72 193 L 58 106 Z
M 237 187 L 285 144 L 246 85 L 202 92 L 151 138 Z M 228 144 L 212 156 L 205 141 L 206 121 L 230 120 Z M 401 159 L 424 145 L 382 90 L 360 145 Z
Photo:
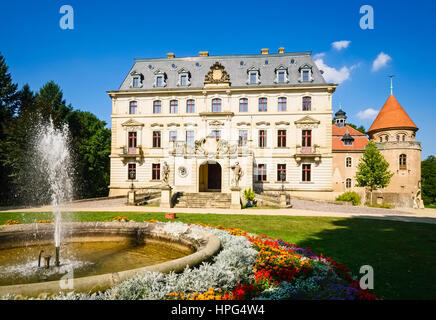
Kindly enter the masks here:
M 228 209 L 231 204 L 230 193 L 199 192 L 179 193 L 174 199 L 175 208 L 221 208 Z

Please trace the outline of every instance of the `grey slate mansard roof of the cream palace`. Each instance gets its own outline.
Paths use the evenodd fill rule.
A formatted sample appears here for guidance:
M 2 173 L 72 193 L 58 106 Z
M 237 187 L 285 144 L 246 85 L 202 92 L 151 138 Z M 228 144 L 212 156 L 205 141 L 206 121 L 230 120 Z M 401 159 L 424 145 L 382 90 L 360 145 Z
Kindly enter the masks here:
M 267 61 L 267 63 L 266 63 Z M 127 74 L 119 90 L 169 90 L 184 88 L 203 88 L 205 75 L 210 67 L 219 62 L 230 76 L 231 87 L 271 87 L 297 85 L 325 85 L 322 73 L 312 59 L 311 52 L 228 55 L 228 56 L 194 56 L 182 58 L 135 59 L 135 64 Z M 241 65 L 241 62 L 243 63 Z M 293 63 L 291 63 L 293 62 Z M 311 67 L 313 81 L 300 82 L 300 68 Z M 260 84 L 247 84 L 248 70 L 259 70 Z M 288 83 L 275 83 L 276 69 L 287 69 Z M 180 72 L 189 72 L 190 85 L 177 86 Z M 154 87 L 156 73 L 166 75 L 165 87 Z M 132 75 L 140 75 L 142 87 L 133 88 Z

